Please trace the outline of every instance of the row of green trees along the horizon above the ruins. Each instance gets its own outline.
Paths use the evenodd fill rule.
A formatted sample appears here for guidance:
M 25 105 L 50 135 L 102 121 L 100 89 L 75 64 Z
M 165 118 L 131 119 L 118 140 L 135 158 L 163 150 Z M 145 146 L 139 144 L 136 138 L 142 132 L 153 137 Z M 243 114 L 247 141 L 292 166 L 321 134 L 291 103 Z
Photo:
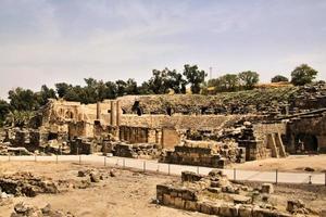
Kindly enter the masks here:
M 291 82 L 296 86 L 309 84 L 315 79 L 317 73 L 311 66 L 302 64 L 292 71 Z M 206 94 L 208 89 L 212 89 L 213 91 L 209 93 L 214 94 L 226 91 L 251 90 L 260 80 L 259 73 L 252 71 L 225 74 L 205 81 L 206 76 L 208 74 L 197 65 L 187 64 L 184 66 L 183 73 L 167 67 L 162 71 L 153 69 L 150 79 L 141 85 L 138 85 L 133 78 L 116 81 L 85 78 L 85 86 L 59 82 L 54 85 L 54 89 L 43 85 L 37 92 L 18 87 L 9 91 L 9 103 L 0 100 L 0 125 L 8 116 L 11 117 L 11 122 L 28 119 L 30 112 L 47 104 L 49 99 L 60 98 L 88 104 L 128 94 L 165 94 L 171 91 L 176 94 L 186 93 L 187 88 L 193 94 Z M 271 81 L 289 81 L 289 79 L 283 75 L 277 75 Z

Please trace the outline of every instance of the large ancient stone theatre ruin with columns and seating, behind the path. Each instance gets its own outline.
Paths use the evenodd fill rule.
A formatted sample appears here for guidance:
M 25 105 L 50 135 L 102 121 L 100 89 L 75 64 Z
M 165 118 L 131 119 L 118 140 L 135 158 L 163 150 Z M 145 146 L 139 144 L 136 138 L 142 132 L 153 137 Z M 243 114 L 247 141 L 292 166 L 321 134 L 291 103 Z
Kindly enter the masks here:
M 17 148 L 26 154 L 111 152 L 176 163 L 191 155 L 197 164 L 222 167 L 287 153 L 323 153 L 325 117 L 323 82 L 216 95 L 126 95 L 87 105 L 50 100 L 29 128 L 9 128 L 0 136 L 0 153 L 17 154 L 12 150 Z M 220 144 L 199 149 L 184 145 L 185 140 Z

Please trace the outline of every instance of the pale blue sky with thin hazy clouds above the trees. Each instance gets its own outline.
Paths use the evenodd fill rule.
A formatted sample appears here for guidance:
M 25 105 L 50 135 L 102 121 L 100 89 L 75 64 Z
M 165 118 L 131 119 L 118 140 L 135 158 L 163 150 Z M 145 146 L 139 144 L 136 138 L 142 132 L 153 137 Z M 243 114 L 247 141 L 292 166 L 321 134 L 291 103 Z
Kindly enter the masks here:
M 326 79 L 325 0 L 0 0 L 0 98 L 15 87 L 149 79 L 197 64 Z

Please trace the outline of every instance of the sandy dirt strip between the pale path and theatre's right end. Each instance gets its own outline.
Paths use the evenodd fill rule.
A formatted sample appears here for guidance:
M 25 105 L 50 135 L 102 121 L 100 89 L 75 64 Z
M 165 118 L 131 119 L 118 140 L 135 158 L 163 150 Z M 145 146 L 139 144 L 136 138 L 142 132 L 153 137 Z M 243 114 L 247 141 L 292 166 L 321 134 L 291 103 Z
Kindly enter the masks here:
M 316 173 L 326 171 L 326 154 L 321 155 L 290 155 L 286 158 L 267 158 L 261 161 L 235 164 L 231 167 L 248 170 L 275 170 L 279 171 L 303 171 L 306 167 Z

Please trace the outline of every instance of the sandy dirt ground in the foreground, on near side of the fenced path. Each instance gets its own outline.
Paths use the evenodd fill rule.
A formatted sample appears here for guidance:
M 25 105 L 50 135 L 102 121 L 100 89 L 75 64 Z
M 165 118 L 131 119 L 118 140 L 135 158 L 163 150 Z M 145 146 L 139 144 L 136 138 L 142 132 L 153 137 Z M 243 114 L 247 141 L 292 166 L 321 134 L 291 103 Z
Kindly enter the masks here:
M 0 164 L 0 174 L 13 174 L 16 171 L 30 171 L 34 175 L 57 180 L 78 180 L 78 170 L 103 169 L 109 167 L 93 165 L 78 165 L 74 163 L 35 163 L 35 162 L 5 162 Z M 141 216 L 141 217 L 204 217 L 208 215 L 179 210 L 159 206 L 152 203 L 155 199 L 158 183 L 179 180 L 179 177 L 168 177 L 158 174 L 142 174 L 130 170 L 116 169 L 115 177 L 109 177 L 98 183 L 92 183 L 87 189 L 68 189 L 59 194 L 39 194 L 35 197 L 14 197 L 13 203 L 0 207 L 0 217 L 8 217 L 13 212 L 17 202 L 25 202 L 38 207 L 48 203 L 52 208 L 71 212 L 77 217 L 109 217 L 109 216 Z M 254 184 L 254 183 L 252 183 Z M 302 199 L 309 207 L 321 209 L 326 206 L 326 188 L 324 187 L 275 187 L 277 201 L 286 204 L 285 196 Z

